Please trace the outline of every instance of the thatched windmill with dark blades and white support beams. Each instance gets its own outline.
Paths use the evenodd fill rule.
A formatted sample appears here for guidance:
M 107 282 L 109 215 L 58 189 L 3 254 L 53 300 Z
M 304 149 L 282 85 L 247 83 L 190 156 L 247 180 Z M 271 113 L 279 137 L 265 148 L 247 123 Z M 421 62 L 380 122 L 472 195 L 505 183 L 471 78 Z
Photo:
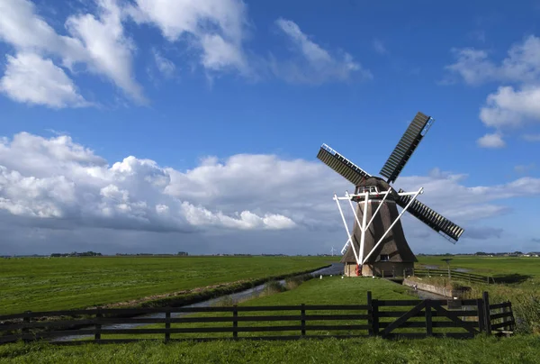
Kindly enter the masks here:
M 405 192 L 391 186 L 434 121 L 420 112 L 415 116 L 379 172 L 385 179 L 370 175 L 327 144 L 320 147 L 317 158 L 356 187 L 352 195 L 347 191 L 343 197 L 334 195 L 348 237 L 341 250 L 344 254 L 341 262 L 345 263 L 347 276 L 405 274 L 413 268 L 417 259 L 401 225 L 401 216 L 405 212 L 453 243 L 463 234 L 463 228 L 419 202 L 417 197 L 423 193 L 422 187 L 415 192 Z M 340 204 L 343 200 L 348 201 L 355 216 L 352 233 Z M 356 209 L 353 203 L 356 203 Z M 398 205 L 402 208 L 401 213 Z

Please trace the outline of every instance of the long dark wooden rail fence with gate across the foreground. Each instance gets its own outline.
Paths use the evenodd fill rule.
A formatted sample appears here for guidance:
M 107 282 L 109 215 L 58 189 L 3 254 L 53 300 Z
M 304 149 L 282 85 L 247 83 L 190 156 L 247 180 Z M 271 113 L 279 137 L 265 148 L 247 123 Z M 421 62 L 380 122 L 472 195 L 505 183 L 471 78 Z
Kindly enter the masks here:
M 502 312 L 491 314 L 494 310 Z M 8 314 L 0 316 L 0 343 L 472 338 L 481 332 L 512 331 L 513 327 L 510 303 L 490 305 L 487 293 L 468 300 L 378 300 L 368 292 L 366 305 L 96 308 Z M 260 332 L 272 334 L 260 336 Z M 147 337 L 141 339 L 143 335 Z

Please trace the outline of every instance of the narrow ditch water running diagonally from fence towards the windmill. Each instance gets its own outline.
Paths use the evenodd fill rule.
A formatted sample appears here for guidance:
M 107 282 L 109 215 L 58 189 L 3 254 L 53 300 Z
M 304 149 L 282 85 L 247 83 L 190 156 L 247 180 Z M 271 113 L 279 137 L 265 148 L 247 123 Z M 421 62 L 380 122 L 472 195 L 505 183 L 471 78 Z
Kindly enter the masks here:
M 340 275 L 343 273 L 343 264 L 342 263 L 333 263 L 330 267 L 317 269 L 309 273 L 313 277 L 319 276 L 330 276 L 330 275 Z M 284 285 L 285 280 L 279 280 L 279 283 Z M 218 304 L 220 301 L 229 299 L 231 301 L 244 301 L 252 297 L 256 297 L 263 289 L 265 289 L 266 284 L 262 284 L 256 287 L 248 288 L 244 291 L 237 293 L 232 293 L 230 295 L 220 296 L 216 298 L 211 298 L 206 301 L 202 301 L 193 305 L 184 305 L 183 307 L 210 307 L 211 305 Z M 182 317 L 190 313 L 172 313 L 171 317 Z M 159 314 L 141 314 L 137 316 L 138 318 L 165 318 L 164 313 Z M 139 326 L 145 326 L 148 323 L 113 323 L 108 325 L 102 325 L 102 329 L 133 329 Z M 88 327 L 79 330 L 88 330 Z M 93 335 L 76 335 L 76 330 L 73 331 L 74 335 L 62 336 L 59 338 L 52 339 L 51 341 L 73 341 L 78 339 L 92 338 Z

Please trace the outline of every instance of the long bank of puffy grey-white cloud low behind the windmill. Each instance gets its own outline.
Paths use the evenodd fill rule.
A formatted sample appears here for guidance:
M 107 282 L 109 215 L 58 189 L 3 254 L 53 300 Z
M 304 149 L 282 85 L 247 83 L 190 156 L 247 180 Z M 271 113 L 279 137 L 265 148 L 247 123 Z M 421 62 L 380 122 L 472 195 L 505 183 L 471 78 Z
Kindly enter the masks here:
M 540 178 L 490 187 L 466 187 L 465 178 L 437 169 L 426 177 L 401 177 L 400 187 L 424 187 L 420 200 L 467 230 L 482 219 L 510 213 L 497 201 L 540 195 Z M 77 247 L 85 246 L 85 239 L 98 239 L 90 238 L 95 234 L 102 240 L 121 239 L 106 249 L 146 243 L 155 251 L 172 246 L 155 241 L 175 239 L 192 241 L 199 252 L 225 247 L 260 252 L 266 244 L 273 251 L 316 251 L 328 241 L 345 241 L 331 196 L 347 188 L 347 180 L 319 161 L 238 154 L 202 159 L 182 171 L 134 156 L 109 163 L 67 135 L 44 138 L 22 132 L 0 139 L 0 232 L 14 240 L 30 239 L 28 234 L 38 229 L 32 239 L 64 236 L 82 244 Z M 431 233 L 411 216 L 405 218 L 405 229 Z M 470 239 L 479 239 L 474 236 Z M 204 250 L 196 248 L 195 237 L 206 241 Z M 63 250 L 76 250 L 67 241 Z

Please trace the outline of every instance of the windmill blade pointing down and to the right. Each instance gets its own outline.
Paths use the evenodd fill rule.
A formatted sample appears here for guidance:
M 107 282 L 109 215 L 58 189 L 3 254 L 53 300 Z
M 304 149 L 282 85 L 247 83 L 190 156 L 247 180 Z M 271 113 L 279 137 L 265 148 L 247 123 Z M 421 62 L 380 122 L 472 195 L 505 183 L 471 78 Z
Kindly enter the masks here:
M 401 192 L 404 191 L 400 189 L 399 193 Z M 411 198 L 412 196 L 400 196 L 396 203 L 404 208 L 409 203 Z M 419 202 L 419 200 L 413 201 L 407 211 L 414 217 L 418 218 L 419 221 L 426 223 L 431 229 L 447 237 L 448 240 L 454 243 L 458 241 L 460 236 L 464 233 L 464 229 L 462 227 L 452 223 L 442 214 L 437 214 L 435 210 L 427 205 L 422 204 Z

